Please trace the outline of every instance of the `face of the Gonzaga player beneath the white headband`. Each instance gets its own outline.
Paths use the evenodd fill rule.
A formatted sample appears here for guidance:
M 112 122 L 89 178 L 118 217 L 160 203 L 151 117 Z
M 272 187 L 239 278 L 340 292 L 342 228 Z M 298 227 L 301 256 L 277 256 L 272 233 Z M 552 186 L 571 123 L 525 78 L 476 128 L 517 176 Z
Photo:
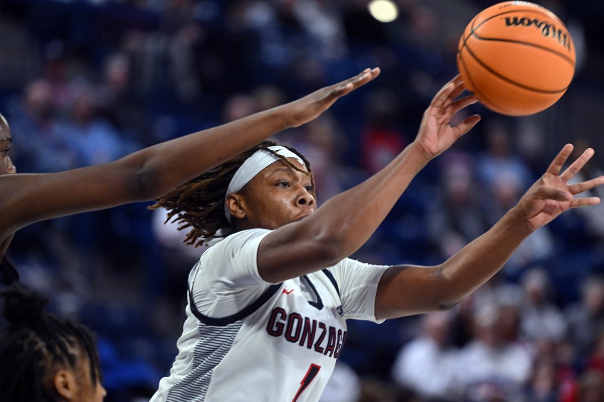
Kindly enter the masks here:
M 295 158 L 295 166 L 306 168 Z M 246 228 L 276 229 L 315 212 L 310 175 L 277 161 L 255 175 L 242 191 Z

